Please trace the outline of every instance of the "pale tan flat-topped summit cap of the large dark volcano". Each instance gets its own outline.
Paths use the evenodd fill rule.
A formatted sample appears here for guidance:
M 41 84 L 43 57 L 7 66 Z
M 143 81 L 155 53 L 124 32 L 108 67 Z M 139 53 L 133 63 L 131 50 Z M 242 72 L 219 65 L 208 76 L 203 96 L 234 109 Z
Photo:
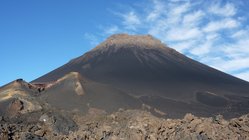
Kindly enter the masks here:
M 114 34 L 107 38 L 103 43 L 99 44 L 93 50 L 131 47 L 153 49 L 166 48 L 166 45 L 151 35 Z

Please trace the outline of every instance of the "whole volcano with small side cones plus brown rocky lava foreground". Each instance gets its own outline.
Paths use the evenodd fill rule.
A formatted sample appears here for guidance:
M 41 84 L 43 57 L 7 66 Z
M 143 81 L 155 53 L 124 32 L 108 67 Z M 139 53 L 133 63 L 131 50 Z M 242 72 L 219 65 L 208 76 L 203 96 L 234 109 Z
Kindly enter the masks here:
M 30 83 L 0 87 L 3 140 L 249 139 L 248 113 L 248 82 L 150 35 L 110 36 Z

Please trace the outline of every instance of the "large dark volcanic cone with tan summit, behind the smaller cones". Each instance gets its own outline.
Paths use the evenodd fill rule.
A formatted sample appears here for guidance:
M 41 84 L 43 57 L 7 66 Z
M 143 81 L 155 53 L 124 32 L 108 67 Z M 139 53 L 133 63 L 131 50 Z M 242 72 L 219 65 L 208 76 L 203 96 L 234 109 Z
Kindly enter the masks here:
M 118 90 L 99 92 L 132 96 L 172 117 L 249 112 L 248 82 L 196 62 L 149 35 L 113 35 L 34 82 L 55 81 L 70 72 L 94 81 L 96 89 L 105 85 Z M 107 103 L 111 107 L 112 102 Z

